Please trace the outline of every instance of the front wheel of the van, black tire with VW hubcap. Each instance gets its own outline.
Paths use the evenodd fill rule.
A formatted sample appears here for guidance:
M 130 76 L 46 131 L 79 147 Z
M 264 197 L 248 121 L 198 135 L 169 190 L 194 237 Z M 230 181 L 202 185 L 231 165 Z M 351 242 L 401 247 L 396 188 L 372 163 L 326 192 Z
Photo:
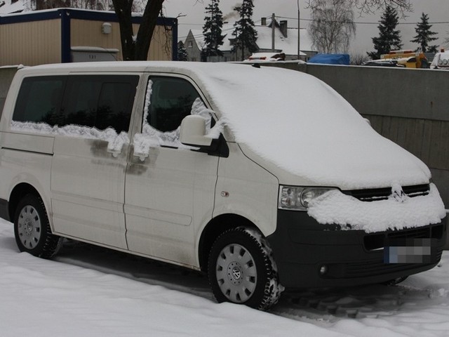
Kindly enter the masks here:
M 271 308 L 283 291 L 267 240 L 246 227 L 227 230 L 216 239 L 210 249 L 208 278 L 218 303 L 257 310 Z

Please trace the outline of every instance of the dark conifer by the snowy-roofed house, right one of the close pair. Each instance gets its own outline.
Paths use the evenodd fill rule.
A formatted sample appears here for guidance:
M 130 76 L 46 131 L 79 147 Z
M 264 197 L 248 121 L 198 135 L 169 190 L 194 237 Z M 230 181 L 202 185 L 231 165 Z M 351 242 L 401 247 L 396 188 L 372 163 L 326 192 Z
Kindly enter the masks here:
M 241 50 L 241 60 L 257 51 L 257 32 L 254 29 L 253 21 L 253 0 L 243 0 L 240 6 L 234 7 L 234 11 L 239 12 L 240 20 L 234 23 L 235 37 L 233 51 L 237 53 Z M 238 58 L 238 57 L 237 57 Z

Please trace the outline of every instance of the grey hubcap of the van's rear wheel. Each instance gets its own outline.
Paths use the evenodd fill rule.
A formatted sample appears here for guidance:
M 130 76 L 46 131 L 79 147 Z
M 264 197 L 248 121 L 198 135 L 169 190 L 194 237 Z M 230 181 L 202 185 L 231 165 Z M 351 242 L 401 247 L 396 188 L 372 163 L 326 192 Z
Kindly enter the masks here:
M 41 239 L 41 219 L 33 206 L 27 205 L 20 211 L 18 218 L 20 242 L 27 249 L 34 249 Z

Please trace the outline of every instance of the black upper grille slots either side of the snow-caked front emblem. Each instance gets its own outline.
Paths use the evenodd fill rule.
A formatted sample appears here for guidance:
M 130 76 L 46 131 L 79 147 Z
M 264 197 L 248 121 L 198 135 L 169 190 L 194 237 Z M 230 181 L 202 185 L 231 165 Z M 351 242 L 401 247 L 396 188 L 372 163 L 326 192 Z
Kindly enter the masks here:
M 429 184 L 402 187 L 403 192 L 407 194 L 408 197 L 427 195 L 429 194 L 429 189 Z M 391 187 L 370 188 L 366 190 L 347 190 L 342 192 L 361 201 L 377 201 L 388 199 L 391 195 Z

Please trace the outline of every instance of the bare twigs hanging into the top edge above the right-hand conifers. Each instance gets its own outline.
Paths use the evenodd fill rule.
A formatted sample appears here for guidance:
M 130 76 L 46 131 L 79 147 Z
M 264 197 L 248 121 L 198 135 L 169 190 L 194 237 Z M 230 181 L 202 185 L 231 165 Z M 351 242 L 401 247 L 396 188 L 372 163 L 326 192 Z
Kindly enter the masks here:
M 307 5 L 312 8 L 319 6 L 321 2 L 326 0 L 307 0 Z M 399 13 L 405 16 L 406 12 L 413 11 L 410 0 L 344 0 L 348 6 L 356 8 L 360 13 L 375 13 L 375 11 L 384 11 L 387 6 L 396 8 Z

